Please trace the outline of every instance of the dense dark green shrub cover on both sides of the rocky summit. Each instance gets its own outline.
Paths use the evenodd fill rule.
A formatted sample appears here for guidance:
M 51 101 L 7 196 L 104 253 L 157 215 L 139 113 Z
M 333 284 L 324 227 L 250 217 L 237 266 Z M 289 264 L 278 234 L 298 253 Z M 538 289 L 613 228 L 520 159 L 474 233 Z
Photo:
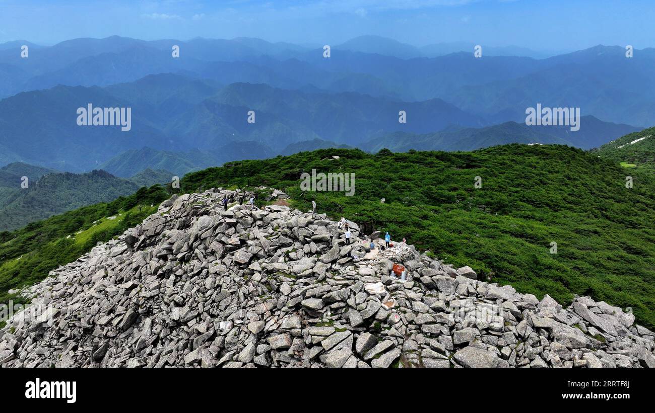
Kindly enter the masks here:
M 312 168 L 354 173 L 354 196 L 301 191 L 300 175 Z M 482 188 L 474 188 L 476 176 Z M 381 150 L 375 155 L 324 149 L 230 162 L 187 174 L 181 183 L 182 191 L 271 186 L 290 193 L 293 206 L 302 209 L 316 199 L 319 212 L 346 216 L 366 232 L 381 229 L 394 239 L 405 237 L 447 263 L 470 265 L 481 278 L 538 297 L 548 293 L 563 304 L 578 294 L 631 306 L 639 322 L 652 328 L 655 179 L 635 174 L 628 189 L 625 176 L 618 163 L 568 146 L 510 144 L 474 152 Z M 149 213 L 149 208 L 135 212 L 135 206 L 167 196 L 153 187 L 0 234 L 0 291 L 43 278 Z M 125 212 L 130 219 L 82 243 L 72 239 L 121 211 L 130 211 Z M 557 242 L 557 254 L 550 253 L 551 242 Z M 16 262 L 21 255 L 19 261 L 27 259 Z

